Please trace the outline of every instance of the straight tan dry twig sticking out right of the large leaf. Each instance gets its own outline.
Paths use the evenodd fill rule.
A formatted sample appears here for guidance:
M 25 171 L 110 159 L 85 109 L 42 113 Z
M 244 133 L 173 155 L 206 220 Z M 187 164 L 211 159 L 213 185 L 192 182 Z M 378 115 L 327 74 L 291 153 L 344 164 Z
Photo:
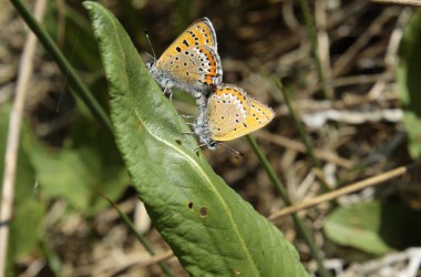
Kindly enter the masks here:
M 336 199 L 336 198 L 338 198 L 341 195 L 350 194 L 350 193 L 360 191 L 360 189 L 369 187 L 369 186 L 380 185 L 380 184 L 382 184 L 386 181 L 389 181 L 391 178 L 396 178 L 398 176 L 401 176 L 401 175 L 408 173 L 410 170 L 412 170 L 412 168 L 414 168 L 417 166 L 419 166 L 419 164 L 409 165 L 409 166 L 400 166 L 398 168 L 384 172 L 382 174 L 376 175 L 376 176 L 370 177 L 370 178 L 366 178 L 363 181 L 360 181 L 360 182 L 353 183 L 351 185 L 341 187 L 341 188 L 332 191 L 330 193 L 322 194 L 322 195 L 320 195 L 318 197 L 315 197 L 315 198 L 311 198 L 311 199 L 307 199 L 307 201 L 304 201 L 301 203 L 297 203 L 295 205 L 285 207 L 285 208 L 283 208 L 283 209 L 280 209 L 278 212 L 273 213 L 268 217 L 268 219 L 269 220 L 275 220 L 275 219 L 277 219 L 279 217 L 283 217 L 283 216 L 286 216 L 286 215 L 289 215 L 289 214 L 292 214 L 292 213 L 297 213 L 297 212 L 302 211 L 302 209 L 307 209 L 309 207 L 319 205 L 321 203 L 325 203 L 325 202 L 328 202 L 328 201 L 331 201 L 331 199 Z

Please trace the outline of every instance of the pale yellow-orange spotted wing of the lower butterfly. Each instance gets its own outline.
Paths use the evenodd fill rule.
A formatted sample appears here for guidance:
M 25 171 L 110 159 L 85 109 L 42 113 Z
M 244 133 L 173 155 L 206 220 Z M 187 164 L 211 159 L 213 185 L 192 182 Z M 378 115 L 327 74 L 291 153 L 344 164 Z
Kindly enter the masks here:
M 240 91 L 244 100 L 235 104 L 222 103 L 220 99 L 208 103 L 208 124 L 214 141 L 232 141 L 249 134 L 268 124 L 274 117 L 274 111 L 267 105 L 248 96 L 237 86 L 230 86 L 234 91 Z M 233 95 L 233 94 L 230 94 Z M 239 104 L 238 104 L 239 103 Z M 234 112 L 233 112 L 234 111 Z M 237 116 L 239 114 L 239 116 Z M 224 116 L 224 119 L 223 119 Z

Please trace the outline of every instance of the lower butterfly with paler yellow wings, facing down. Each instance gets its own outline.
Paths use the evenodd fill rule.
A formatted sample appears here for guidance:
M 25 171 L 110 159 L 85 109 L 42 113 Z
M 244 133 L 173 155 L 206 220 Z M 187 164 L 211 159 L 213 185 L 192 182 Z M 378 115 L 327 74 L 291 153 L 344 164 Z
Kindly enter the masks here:
M 214 86 L 204 113 L 194 124 L 194 133 L 208 148 L 218 142 L 232 141 L 261 129 L 275 117 L 267 105 L 247 95 L 233 84 Z

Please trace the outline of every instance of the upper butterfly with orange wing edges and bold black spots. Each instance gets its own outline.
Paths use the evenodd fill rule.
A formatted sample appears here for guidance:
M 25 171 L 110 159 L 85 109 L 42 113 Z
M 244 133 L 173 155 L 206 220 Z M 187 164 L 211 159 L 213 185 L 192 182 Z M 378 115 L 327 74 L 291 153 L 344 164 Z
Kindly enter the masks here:
M 196 98 L 199 112 L 210 89 L 222 82 L 216 33 L 207 18 L 193 22 L 161 55 L 146 64 L 156 82 L 172 96 L 177 88 Z

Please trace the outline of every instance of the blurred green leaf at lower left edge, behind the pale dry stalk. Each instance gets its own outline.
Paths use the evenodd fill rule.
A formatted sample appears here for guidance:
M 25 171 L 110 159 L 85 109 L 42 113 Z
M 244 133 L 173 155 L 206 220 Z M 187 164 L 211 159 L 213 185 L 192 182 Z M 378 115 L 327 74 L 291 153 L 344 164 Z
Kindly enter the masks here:
M 0 105 L 0 156 L 4 157 L 10 114 L 9 104 Z M 22 129 L 22 140 L 18 154 L 17 174 L 14 182 L 13 216 L 10 225 L 8 250 L 9 268 L 17 258 L 32 250 L 42 232 L 41 220 L 45 212 L 44 203 L 38 198 L 37 179 L 33 167 L 29 163 L 28 153 L 30 132 Z M 4 158 L 0 160 L 0 174 L 3 176 Z M 1 188 L 1 184 L 0 184 Z M 0 199 L 1 201 L 1 199 Z M 29 227 L 30 226 L 30 227 Z

